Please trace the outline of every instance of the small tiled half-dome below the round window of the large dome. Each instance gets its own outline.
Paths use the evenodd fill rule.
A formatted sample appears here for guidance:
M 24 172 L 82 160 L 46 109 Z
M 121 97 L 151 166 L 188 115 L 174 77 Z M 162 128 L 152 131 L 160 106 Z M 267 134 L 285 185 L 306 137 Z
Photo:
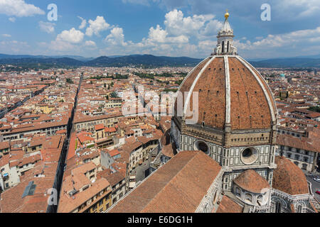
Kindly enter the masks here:
M 255 172 L 255 170 L 246 170 L 238 177 L 233 179 L 233 182 L 247 192 L 263 194 L 270 189 L 270 184 L 267 180 Z

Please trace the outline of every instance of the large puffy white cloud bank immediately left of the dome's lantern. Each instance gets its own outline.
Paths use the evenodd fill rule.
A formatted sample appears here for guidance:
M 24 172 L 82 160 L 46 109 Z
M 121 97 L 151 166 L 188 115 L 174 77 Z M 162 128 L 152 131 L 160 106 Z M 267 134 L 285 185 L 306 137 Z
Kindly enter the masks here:
M 105 38 L 107 47 L 100 50 L 100 53 L 118 55 L 137 52 L 153 55 L 194 56 L 200 50 L 198 40 L 208 38 L 212 34 L 215 36 L 218 28 L 222 26 L 220 21 L 213 20 L 213 18 L 215 16 L 212 14 L 184 17 L 182 11 L 175 9 L 166 13 L 164 28 L 160 25 L 152 26 L 149 28 L 148 36 L 142 38 L 139 43 L 126 41 L 123 29 L 116 27 Z M 190 43 L 191 41 L 193 43 Z M 213 48 L 213 45 L 210 46 L 205 54 L 210 54 Z

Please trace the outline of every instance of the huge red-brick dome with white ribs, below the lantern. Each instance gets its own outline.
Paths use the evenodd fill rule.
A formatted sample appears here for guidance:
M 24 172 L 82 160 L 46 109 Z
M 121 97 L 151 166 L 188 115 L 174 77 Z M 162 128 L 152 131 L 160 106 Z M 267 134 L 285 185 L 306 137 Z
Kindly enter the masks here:
M 267 82 L 238 55 L 227 52 L 207 57 L 183 80 L 179 91 L 184 96 L 183 116 L 188 119 L 198 114 L 199 124 L 242 130 L 272 128 L 276 121 L 276 105 Z M 198 92 L 195 113 L 193 92 Z

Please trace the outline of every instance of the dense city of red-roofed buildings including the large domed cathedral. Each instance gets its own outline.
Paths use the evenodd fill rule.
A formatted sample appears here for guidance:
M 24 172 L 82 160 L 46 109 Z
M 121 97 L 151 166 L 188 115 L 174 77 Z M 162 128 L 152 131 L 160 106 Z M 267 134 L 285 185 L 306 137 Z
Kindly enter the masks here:
M 320 70 L 255 69 L 228 16 L 194 68 L 1 67 L 0 212 L 319 212 Z

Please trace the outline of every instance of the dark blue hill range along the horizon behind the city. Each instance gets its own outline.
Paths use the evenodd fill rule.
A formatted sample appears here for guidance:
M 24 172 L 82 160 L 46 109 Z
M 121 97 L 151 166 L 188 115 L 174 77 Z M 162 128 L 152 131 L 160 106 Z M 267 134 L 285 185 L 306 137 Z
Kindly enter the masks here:
M 102 56 L 102 57 L 81 57 L 73 55 L 64 56 L 44 56 L 44 55 L 4 55 L 0 54 L 0 64 L 23 65 L 33 67 L 37 64 L 46 67 L 123 67 L 130 65 L 142 65 L 146 67 L 182 67 L 196 66 L 201 59 L 191 57 L 165 57 L 154 55 L 127 55 L 127 56 Z M 254 67 L 319 67 L 320 57 L 301 56 L 287 57 L 268 60 L 250 60 Z

